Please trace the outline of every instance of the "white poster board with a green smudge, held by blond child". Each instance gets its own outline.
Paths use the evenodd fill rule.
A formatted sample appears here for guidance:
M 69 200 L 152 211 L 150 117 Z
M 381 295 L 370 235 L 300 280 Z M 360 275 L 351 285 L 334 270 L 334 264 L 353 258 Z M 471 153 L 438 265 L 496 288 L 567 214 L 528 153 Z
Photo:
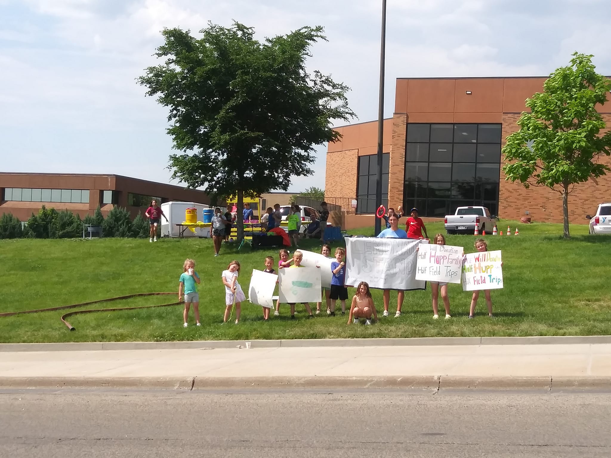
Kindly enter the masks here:
M 320 269 L 286 267 L 278 269 L 279 296 L 283 304 L 321 302 Z

